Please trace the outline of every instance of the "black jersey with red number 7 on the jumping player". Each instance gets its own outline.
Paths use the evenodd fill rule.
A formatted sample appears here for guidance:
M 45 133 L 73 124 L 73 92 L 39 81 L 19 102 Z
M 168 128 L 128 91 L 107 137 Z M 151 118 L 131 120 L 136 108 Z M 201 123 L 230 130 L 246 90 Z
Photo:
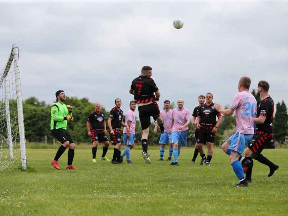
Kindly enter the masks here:
M 134 90 L 135 103 L 149 103 L 155 100 L 154 92 L 158 91 L 154 80 L 146 76 L 133 79 L 131 89 Z

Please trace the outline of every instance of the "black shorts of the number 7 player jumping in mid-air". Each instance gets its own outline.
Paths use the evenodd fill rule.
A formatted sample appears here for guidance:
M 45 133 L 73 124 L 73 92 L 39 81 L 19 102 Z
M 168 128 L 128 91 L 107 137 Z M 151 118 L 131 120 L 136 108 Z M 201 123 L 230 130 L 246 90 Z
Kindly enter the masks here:
M 138 107 L 138 111 L 142 130 L 147 129 L 150 126 L 151 116 L 153 117 L 154 121 L 156 121 L 160 115 L 159 106 L 156 101 L 148 105 Z

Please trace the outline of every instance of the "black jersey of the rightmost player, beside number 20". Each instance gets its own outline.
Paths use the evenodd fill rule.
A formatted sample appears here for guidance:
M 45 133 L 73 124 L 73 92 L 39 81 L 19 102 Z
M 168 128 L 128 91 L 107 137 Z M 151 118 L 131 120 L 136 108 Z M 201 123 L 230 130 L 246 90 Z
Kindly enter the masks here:
M 266 119 L 263 124 L 256 124 L 256 131 L 273 133 L 274 101 L 270 96 L 263 99 L 257 106 L 257 118 L 260 115 L 266 116 Z

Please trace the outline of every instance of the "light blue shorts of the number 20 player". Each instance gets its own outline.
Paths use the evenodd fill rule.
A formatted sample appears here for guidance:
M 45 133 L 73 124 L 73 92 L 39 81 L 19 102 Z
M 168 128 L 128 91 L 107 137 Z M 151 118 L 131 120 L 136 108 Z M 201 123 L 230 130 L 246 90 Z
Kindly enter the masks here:
M 227 140 L 230 143 L 229 149 L 242 154 L 254 134 L 235 133 Z

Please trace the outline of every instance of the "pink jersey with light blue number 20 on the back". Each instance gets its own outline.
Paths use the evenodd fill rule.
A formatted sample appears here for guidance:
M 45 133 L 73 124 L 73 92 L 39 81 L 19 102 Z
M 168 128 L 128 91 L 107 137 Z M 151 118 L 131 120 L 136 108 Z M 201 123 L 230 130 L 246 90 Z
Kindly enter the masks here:
M 256 117 L 257 102 L 249 91 L 237 93 L 230 105 L 236 114 L 236 133 L 254 134 L 254 118 Z

